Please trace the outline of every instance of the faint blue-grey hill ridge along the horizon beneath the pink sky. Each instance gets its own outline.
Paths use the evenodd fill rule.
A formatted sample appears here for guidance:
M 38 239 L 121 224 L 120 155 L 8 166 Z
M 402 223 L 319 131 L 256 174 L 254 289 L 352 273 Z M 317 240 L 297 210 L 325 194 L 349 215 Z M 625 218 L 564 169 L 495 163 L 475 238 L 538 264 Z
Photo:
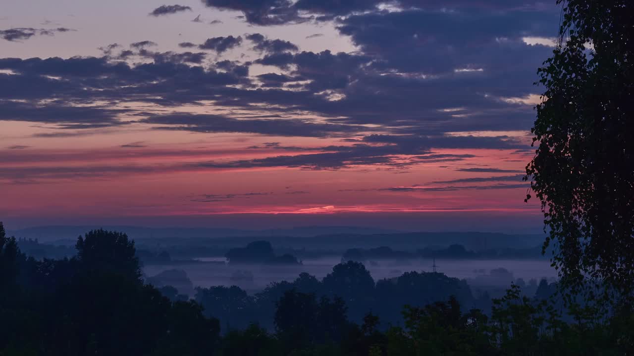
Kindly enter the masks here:
M 307 248 L 345 251 L 348 248 L 390 246 L 395 250 L 453 244 L 468 250 L 488 248 L 531 248 L 543 243 L 541 234 L 502 234 L 495 232 L 403 232 L 352 226 L 306 226 L 292 229 L 241 230 L 210 228 L 152 228 L 139 226 L 39 226 L 8 231 L 17 238 L 38 239 L 44 243 L 74 244 L 81 234 L 103 229 L 126 232 L 138 245 L 218 246 L 233 248 L 252 241 L 266 240 L 276 248 Z

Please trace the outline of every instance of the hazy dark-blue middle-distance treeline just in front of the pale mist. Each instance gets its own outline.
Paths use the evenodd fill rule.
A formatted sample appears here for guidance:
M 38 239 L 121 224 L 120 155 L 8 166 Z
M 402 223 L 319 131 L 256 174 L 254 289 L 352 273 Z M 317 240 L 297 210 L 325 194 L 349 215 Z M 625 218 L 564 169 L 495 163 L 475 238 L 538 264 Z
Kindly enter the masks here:
M 312 294 L 317 300 L 339 298 L 347 306 L 351 321 L 362 322 L 372 312 L 380 317 L 384 327 L 403 324 L 403 305 L 422 307 L 450 296 L 469 308 L 481 305 L 490 310 L 491 305 L 488 296 L 474 298 L 469 285 L 457 278 L 441 273 L 406 272 L 375 283 L 363 264 L 352 261 L 335 265 L 321 281 L 303 272 L 295 281 L 271 283 L 255 295 L 238 286 L 197 288 L 195 300 L 205 308 L 205 315 L 220 319 L 225 329 L 242 329 L 254 322 L 273 329 L 276 303 L 288 291 Z

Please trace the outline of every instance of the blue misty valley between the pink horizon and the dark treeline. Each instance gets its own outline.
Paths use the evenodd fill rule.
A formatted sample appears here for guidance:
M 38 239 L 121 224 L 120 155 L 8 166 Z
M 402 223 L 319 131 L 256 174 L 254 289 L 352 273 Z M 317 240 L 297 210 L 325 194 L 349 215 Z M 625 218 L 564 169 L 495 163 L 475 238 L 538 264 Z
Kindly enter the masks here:
M 72 253 L 73 234 L 87 226 L 32 227 L 11 231 L 18 238 L 36 239 L 46 246 L 66 246 Z M 302 272 L 323 279 L 335 265 L 347 258 L 359 260 L 375 281 L 392 279 L 406 272 L 441 272 L 464 279 L 473 288 L 500 291 L 521 279 L 555 281 L 557 273 L 541 255 L 539 235 L 511 235 L 483 232 L 403 232 L 363 227 L 296 227 L 268 231 L 237 229 L 183 229 L 107 227 L 126 229 L 136 237 L 143 275 L 159 284 L 181 283 L 179 291 L 191 297 L 195 288 L 238 286 L 257 293 L 271 283 L 292 282 Z M 295 255 L 299 264 L 231 263 L 226 253 L 253 241 L 268 241 L 276 253 Z M 46 242 L 48 241 L 48 242 Z M 448 252 L 449 246 L 463 249 Z M 60 248 L 62 248 L 60 246 Z M 350 257 L 346 253 L 387 247 L 387 254 Z M 49 247 L 50 248 L 50 247 Z M 402 249 L 402 250 L 401 250 Z M 426 250 L 425 250 L 426 249 Z M 40 247 L 40 250 L 42 248 Z M 44 249 L 46 250 L 46 248 Z M 417 254 L 417 250 L 419 253 Z M 489 250 L 489 253 L 482 251 Z M 25 248 L 29 253 L 30 250 Z M 425 251 L 422 252 L 422 251 Z M 491 251 L 496 253 L 491 257 Z M 37 253 L 37 248 L 34 248 Z M 55 253 L 55 250 L 51 250 Z M 168 259 L 157 258 L 160 253 Z M 514 255 L 515 258 L 512 258 Z M 148 257 L 149 256 L 149 257 Z M 44 257 L 44 255 L 42 255 Z M 436 268 L 434 269 L 434 263 Z M 181 271 L 176 280 L 170 271 Z M 162 272 L 168 272 L 168 277 Z M 172 276 L 174 278 L 174 276 Z M 533 282 L 534 283 L 534 282 Z

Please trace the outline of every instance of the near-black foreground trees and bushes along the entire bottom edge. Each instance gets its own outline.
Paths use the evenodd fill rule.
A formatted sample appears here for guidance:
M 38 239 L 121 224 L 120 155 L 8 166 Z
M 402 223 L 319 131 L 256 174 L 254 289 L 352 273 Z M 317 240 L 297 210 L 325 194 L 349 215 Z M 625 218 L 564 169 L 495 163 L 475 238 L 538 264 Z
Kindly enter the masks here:
M 424 307 L 401 307 L 397 303 L 402 301 L 398 298 L 406 290 L 404 284 L 386 281 L 385 288 L 394 284 L 393 289 L 385 289 L 394 297 L 391 304 L 403 310 L 401 326 L 381 327 L 385 321 L 372 312 L 354 322 L 355 305 L 363 300 L 349 299 L 361 294 L 353 289 L 363 287 L 369 293 L 373 284 L 354 263 L 339 265 L 344 272 L 333 270 L 323 281 L 301 276 L 292 283 L 274 303 L 271 331 L 250 324 L 223 332 L 226 327 L 218 319 L 205 316 L 205 308 L 211 310 L 219 305 L 217 301 L 203 300 L 202 305 L 172 301 L 145 284 L 134 242 L 125 234 L 91 231 L 77 239 L 75 247 L 77 255 L 72 258 L 27 258 L 15 239 L 6 238 L 0 224 L 0 355 L 625 355 L 632 351 L 630 310 L 607 318 L 586 307 L 574 310 L 576 321 L 566 323 L 547 302 L 521 296 L 517 286 L 493 301 L 488 317 L 461 307 L 455 297 Z M 359 280 L 350 280 L 351 276 Z M 302 289 L 302 282 L 318 286 L 313 289 L 318 292 Z M 378 284 L 369 293 L 372 298 L 379 298 Z M 343 286 L 348 291 L 336 289 Z

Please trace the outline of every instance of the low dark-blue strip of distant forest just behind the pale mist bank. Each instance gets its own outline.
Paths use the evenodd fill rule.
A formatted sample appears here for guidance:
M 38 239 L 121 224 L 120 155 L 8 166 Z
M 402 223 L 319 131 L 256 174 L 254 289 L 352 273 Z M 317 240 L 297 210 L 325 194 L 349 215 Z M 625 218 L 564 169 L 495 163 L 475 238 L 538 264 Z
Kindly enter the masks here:
M 156 241 L 144 241 L 142 245 L 137 248 L 137 255 L 139 260 L 143 264 L 165 264 L 167 262 L 192 262 L 195 258 L 205 256 L 224 256 L 228 260 L 233 257 L 234 263 L 238 262 L 267 262 L 270 264 L 298 264 L 302 258 L 319 258 L 325 256 L 340 255 L 342 260 L 354 260 L 357 262 L 371 262 L 372 260 L 420 260 L 439 258 L 446 260 L 495 260 L 495 259 L 509 259 L 509 260 L 541 260 L 545 257 L 541 253 L 541 246 L 535 244 L 530 247 L 508 247 L 504 245 L 521 245 L 517 241 L 509 241 L 506 244 L 498 241 L 496 248 L 480 248 L 476 250 L 468 249 L 465 245 L 474 245 L 469 243 L 469 239 L 472 236 L 467 233 L 462 238 L 454 237 L 451 241 L 466 240 L 465 245 L 459 243 L 453 243 L 452 245 L 445 246 L 447 241 L 444 241 L 444 245 L 432 245 L 424 248 L 418 248 L 412 250 L 394 250 L 390 246 L 381 246 L 381 243 L 386 243 L 390 240 L 391 236 L 381 236 L 377 238 L 374 235 L 363 236 L 365 241 L 361 238 L 351 239 L 347 242 L 347 245 L 343 245 L 342 241 L 338 241 L 339 248 L 324 248 L 328 246 L 328 241 L 324 242 L 324 245 L 316 250 L 307 249 L 304 246 L 302 248 L 292 248 L 288 245 L 281 245 L 282 247 L 276 247 L 273 251 L 273 245 L 271 239 L 259 240 L 265 245 L 262 251 L 257 251 L 259 247 L 252 245 L 262 239 L 261 236 L 251 238 L 236 238 L 235 241 L 223 241 L 223 239 L 195 239 L 193 241 L 178 241 L 178 239 L 169 239 L 169 243 L 164 243 L 162 246 Z M 323 236 L 317 236 L 316 239 L 324 239 Z M 340 238 L 344 238 L 340 236 Z M 512 236 L 505 236 L 505 238 L 512 239 Z M 286 239 L 286 238 L 284 238 Z M 345 239 L 345 238 L 344 238 Z M 296 238 L 297 240 L 297 238 Z M 301 239 L 300 239 L 301 240 Z M 35 258 L 63 258 L 72 257 L 75 254 L 75 249 L 72 245 L 68 244 L 67 240 L 63 241 L 50 241 L 42 243 L 37 238 L 18 238 L 18 245 L 20 250 L 26 255 Z M 248 241 L 248 242 L 246 242 Z M 273 241 L 283 244 L 284 241 L 280 241 L 280 238 L 273 238 Z M 438 242 L 438 241 L 437 241 Z M 236 247 L 236 245 L 243 243 L 247 246 Z M 365 248 L 349 248 L 350 245 L 358 246 L 372 246 L 372 244 L 378 247 L 365 247 Z M 295 241 L 295 244 L 298 244 Z M 420 244 L 420 241 L 418 242 Z M 415 243 L 412 245 L 416 246 Z M 249 246 L 251 248 L 249 249 Z M 269 247 L 270 246 L 270 247 Z M 275 252 L 278 255 L 275 255 Z M 249 255 L 249 253 L 251 253 Z

